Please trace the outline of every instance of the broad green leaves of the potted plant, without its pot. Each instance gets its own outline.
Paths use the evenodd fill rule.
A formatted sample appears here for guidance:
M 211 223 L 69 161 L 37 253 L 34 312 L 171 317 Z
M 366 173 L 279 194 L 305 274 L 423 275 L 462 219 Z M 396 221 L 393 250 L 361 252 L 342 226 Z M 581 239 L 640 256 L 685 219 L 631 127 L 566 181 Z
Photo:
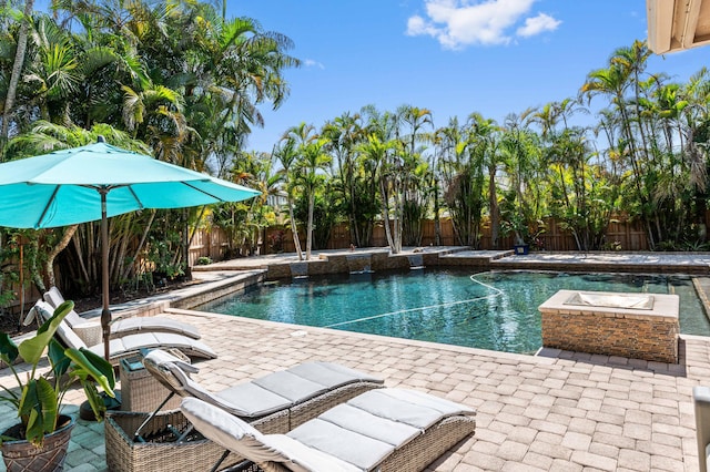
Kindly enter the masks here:
M 61 304 L 37 334 L 22 340 L 19 346 L 6 332 L 0 332 L 0 359 L 9 366 L 20 389 L 17 392 L 3 386 L 4 393 L 0 397 L 0 401 L 10 403 L 17 410 L 22 422 L 23 437 L 14 439 L 27 439 L 41 447 L 44 435 L 57 429 L 64 393 L 75 382 L 82 386 L 98 419 L 102 418 L 105 407 L 97 384 L 114 397 L 115 379 L 109 361 L 83 348 L 65 349 L 54 339 L 60 322 L 73 308 L 73 301 Z M 45 350 L 50 370 L 42 374 L 39 370 L 40 360 Z M 28 373 L 17 370 L 14 362 L 18 358 L 30 365 Z

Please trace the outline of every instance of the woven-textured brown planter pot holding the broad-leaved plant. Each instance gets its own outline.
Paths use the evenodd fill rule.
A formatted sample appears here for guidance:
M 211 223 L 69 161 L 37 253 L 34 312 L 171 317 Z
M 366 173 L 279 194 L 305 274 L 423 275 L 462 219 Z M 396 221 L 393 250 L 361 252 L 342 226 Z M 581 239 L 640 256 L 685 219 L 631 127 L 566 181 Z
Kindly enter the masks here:
M 59 472 L 64 465 L 71 431 L 77 424 L 73 417 L 62 414 L 57 431 L 44 437 L 44 444 L 36 448 L 28 441 L 4 441 L 0 447 L 8 472 Z M 17 435 L 20 425 L 16 424 L 3 434 Z

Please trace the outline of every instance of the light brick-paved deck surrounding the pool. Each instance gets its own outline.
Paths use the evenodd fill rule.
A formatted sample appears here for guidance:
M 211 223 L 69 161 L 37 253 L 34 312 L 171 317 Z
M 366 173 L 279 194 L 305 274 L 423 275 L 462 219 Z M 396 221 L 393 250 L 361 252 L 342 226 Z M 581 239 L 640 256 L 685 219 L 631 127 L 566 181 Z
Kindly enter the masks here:
M 546 260 L 564 260 L 590 267 L 585 264 L 594 260 L 648 271 L 653 271 L 651 264 L 689 268 L 681 273 L 710 267 L 710 255 L 698 254 L 571 256 L 504 255 L 496 266 L 519 268 L 527 260 L 529 268 L 544 269 Z M 263 264 L 256 259 L 263 258 L 240 263 L 250 260 L 254 270 Z M 229 264 L 211 268 L 195 274 L 207 280 L 204 285 L 183 289 L 181 296 L 234 277 Z M 697 287 L 710 293 L 710 279 L 697 280 Z M 197 326 L 219 353 L 196 363 L 195 378 L 210 390 L 306 360 L 328 360 L 377 374 L 387 387 L 427 391 L 475 408 L 476 434 L 435 462 L 433 471 L 698 470 L 691 391 L 710 383 L 710 338 L 682 336 L 680 362 L 668 365 L 559 350 L 531 357 L 180 309 L 163 316 Z M 12 380 L 8 369 L 0 370 L 0 384 L 12 386 Z M 80 391 L 65 398 L 73 409 L 81 401 Z M 12 422 L 0 404 L 0 428 Z M 102 423 L 79 420 L 64 470 L 106 470 Z

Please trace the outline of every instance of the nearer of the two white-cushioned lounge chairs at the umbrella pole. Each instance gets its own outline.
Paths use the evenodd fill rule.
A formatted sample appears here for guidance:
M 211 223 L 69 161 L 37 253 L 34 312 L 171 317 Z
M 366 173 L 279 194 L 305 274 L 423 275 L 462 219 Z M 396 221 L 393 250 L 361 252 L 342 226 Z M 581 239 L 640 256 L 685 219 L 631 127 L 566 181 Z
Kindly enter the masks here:
M 51 305 L 42 300 L 34 304 L 31 309 L 43 320 L 51 318 L 54 311 Z M 57 336 L 68 347 L 77 349 L 85 348 L 99 356 L 103 356 L 103 343 L 88 346 L 64 320 L 62 320 L 57 329 Z M 118 366 L 121 359 L 133 357 L 142 349 L 155 348 L 180 349 L 186 356 L 196 358 L 214 359 L 217 357 L 210 347 L 196 339 L 173 332 L 143 331 L 136 335 L 126 335 L 121 338 L 111 339 L 109 345 L 109 360 L 112 365 Z

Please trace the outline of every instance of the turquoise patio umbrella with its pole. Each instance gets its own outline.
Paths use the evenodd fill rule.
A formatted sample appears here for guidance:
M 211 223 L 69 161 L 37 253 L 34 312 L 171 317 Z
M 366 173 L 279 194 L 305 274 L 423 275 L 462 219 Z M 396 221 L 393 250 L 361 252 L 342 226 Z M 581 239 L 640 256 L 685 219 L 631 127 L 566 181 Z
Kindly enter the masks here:
M 0 164 L 0 226 L 51 228 L 101 219 L 104 353 L 109 358 L 109 225 L 143 208 L 252 198 L 260 192 L 98 143 Z

